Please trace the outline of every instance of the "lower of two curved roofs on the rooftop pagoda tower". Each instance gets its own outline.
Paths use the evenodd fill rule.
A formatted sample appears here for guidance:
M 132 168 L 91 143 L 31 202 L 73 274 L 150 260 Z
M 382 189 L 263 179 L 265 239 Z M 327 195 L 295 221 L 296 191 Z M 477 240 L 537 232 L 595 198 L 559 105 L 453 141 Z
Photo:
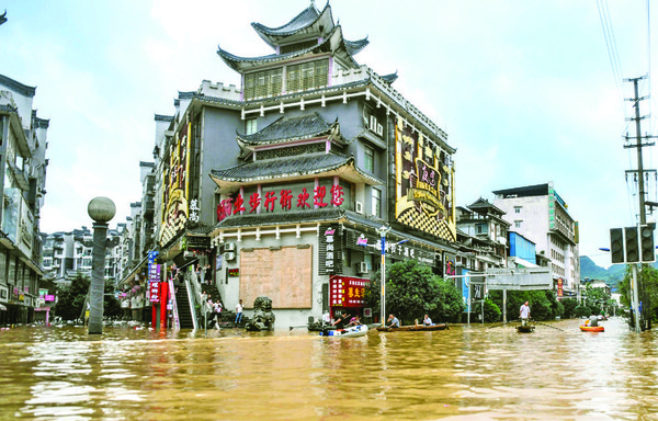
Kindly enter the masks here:
M 270 54 L 260 57 L 239 57 L 222 49 L 220 47 L 217 47 L 217 54 L 228 65 L 228 67 L 238 72 L 245 72 L 257 67 L 271 65 L 276 61 L 290 60 L 305 55 L 321 53 L 331 53 L 333 56 L 341 58 L 343 62 L 351 65 L 353 68 L 358 68 L 359 65 L 356 61 L 354 61 L 352 56 L 363 49 L 367 44 L 367 38 L 360 41 L 344 39 L 341 26 L 337 25 L 327 35 L 327 37 L 322 38 L 318 44 L 314 44 L 313 46 L 286 54 Z

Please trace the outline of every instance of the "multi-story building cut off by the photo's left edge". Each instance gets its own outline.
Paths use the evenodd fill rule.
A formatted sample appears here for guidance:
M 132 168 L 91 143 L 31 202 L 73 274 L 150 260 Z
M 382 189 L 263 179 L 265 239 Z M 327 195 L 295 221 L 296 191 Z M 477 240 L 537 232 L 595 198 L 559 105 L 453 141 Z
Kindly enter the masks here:
M 36 88 L 0 75 L 1 322 L 27 322 L 38 298 L 49 121 L 32 109 Z

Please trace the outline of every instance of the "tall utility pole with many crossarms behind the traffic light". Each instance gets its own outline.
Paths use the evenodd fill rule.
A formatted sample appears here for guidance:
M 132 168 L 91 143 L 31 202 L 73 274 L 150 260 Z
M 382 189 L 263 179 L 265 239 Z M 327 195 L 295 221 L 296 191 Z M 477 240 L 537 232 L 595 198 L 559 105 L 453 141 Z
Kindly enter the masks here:
M 624 148 L 636 148 L 637 149 L 637 187 L 638 187 L 638 197 L 639 197 L 639 224 L 638 226 L 645 226 L 647 224 L 647 212 L 646 212 L 646 192 L 645 192 L 645 183 L 644 183 L 644 174 L 645 174 L 645 170 L 644 170 L 644 164 L 643 164 L 643 158 L 642 158 L 642 148 L 645 146 L 654 146 L 654 141 L 647 141 L 643 144 L 643 138 L 644 139 L 651 139 L 655 138 L 655 136 L 642 136 L 642 129 L 640 129 L 640 121 L 646 118 L 647 115 L 642 116 L 639 115 L 639 101 L 646 100 L 648 96 L 639 96 L 639 92 L 638 92 L 638 87 L 637 83 L 643 80 L 646 79 L 647 76 L 642 76 L 639 78 L 631 78 L 631 79 L 624 79 L 624 82 L 633 82 L 633 89 L 635 92 L 635 98 L 632 99 L 625 99 L 626 101 L 633 101 L 633 106 L 635 107 L 635 117 L 628 117 L 626 118 L 627 121 L 635 121 L 635 144 L 631 144 L 631 145 L 624 145 Z M 629 140 L 631 138 L 628 137 L 628 135 L 626 134 L 625 136 L 626 140 Z M 629 172 L 635 172 L 633 170 L 631 171 L 626 171 L 626 173 Z M 638 276 L 638 271 L 637 271 L 637 265 L 642 264 L 642 263 L 632 263 L 633 264 L 633 312 L 634 312 L 634 318 L 635 318 L 635 332 L 639 333 L 642 331 L 640 329 L 640 323 L 639 323 L 639 319 L 640 319 L 640 314 L 639 314 L 639 276 Z

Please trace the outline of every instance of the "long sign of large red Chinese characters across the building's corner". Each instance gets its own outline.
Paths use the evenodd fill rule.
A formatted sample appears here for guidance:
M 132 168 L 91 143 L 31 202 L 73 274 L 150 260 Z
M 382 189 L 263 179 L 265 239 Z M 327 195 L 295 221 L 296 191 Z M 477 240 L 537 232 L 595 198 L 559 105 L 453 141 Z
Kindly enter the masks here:
M 327 197 L 328 193 L 330 197 Z M 321 208 L 329 205 L 340 206 L 344 202 L 343 194 L 341 185 L 332 185 L 329 192 L 327 192 L 327 186 L 318 185 L 313 190 L 313 197 L 308 190 L 304 187 L 297 194 L 296 200 L 293 196 L 293 191 L 287 189 L 281 190 L 279 195 L 276 191 L 266 192 L 264 197 L 258 192 L 251 193 L 249 197 L 242 197 L 241 194 L 238 194 L 235 198 L 225 198 L 217 205 L 217 221 L 240 213 L 254 214 L 261 205 L 266 212 L 274 212 L 277 206 L 282 210 L 290 210 L 293 207 L 293 203 L 298 209 Z

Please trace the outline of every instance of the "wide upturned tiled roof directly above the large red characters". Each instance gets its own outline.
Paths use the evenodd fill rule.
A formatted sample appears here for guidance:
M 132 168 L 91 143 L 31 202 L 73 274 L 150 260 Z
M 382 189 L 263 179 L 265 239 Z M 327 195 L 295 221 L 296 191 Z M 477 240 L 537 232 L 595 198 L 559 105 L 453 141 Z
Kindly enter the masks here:
M 211 178 L 219 186 L 219 193 L 235 191 L 243 185 L 263 183 L 263 181 L 279 182 L 282 179 L 296 181 L 320 175 L 340 175 L 351 182 L 371 185 L 384 183 L 359 169 L 355 166 L 354 157 L 337 153 L 309 153 L 275 158 L 211 171 Z

